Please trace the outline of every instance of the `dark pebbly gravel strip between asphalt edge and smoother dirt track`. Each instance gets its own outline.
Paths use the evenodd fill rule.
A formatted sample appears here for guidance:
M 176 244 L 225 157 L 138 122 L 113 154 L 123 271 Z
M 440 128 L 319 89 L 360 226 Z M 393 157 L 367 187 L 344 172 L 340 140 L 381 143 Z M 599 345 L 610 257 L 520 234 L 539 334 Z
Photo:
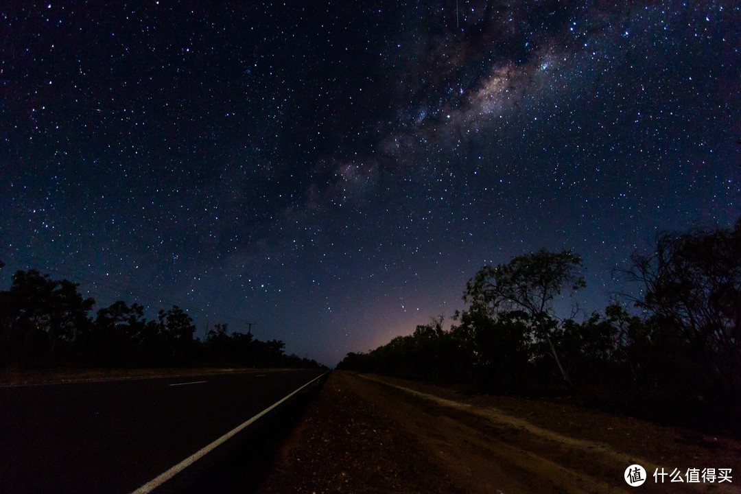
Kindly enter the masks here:
M 260 493 L 463 493 L 419 441 L 332 373 Z

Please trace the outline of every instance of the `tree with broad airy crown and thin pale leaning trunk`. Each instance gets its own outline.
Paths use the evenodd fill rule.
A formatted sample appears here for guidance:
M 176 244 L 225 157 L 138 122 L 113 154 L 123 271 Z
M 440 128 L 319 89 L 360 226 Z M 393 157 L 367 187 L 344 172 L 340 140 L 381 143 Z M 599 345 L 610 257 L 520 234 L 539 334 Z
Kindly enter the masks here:
M 576 291 L 586 286 L 581 268 L 581 257 L 571 250 L 539 250 L 517 256 L 508 264 L 482 267 L 466 284 L 463 301 L 491 316 L 502 311 L 524 311 L 533 321 L 535 335 L 548 342 L 562 378 L 573 389 L 552 338 L 559 326 L 554 301 L 566 287 Z

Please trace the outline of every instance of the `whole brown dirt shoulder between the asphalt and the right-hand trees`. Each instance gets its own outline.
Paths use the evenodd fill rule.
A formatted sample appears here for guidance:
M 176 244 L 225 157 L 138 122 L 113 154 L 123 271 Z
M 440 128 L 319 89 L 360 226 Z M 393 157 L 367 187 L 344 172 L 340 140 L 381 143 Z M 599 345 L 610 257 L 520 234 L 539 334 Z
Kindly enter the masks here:
M 741 492 L 741 443 L 567 403 L 332 373 L 262 493 Z M 685 479 L 654 481 L 654 470 Z M 731 469 L 731 483 L 687 470 Z M 737 475 L 740 475 L 738 478 Z M 659 481 L 661 478 L 659 477 Z

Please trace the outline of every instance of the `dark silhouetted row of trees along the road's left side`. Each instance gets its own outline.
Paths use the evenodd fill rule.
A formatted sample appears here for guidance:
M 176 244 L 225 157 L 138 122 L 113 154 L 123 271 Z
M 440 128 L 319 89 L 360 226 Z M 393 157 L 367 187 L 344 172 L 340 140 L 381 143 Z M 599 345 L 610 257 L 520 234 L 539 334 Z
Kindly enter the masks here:
M 1 263 L 0 263 L 1 267 Z M 0 291 L 0 368 L 56 366 L 311 367 L 316 361 L 286 355 L 283 341 L 231 333 L 227 324 L 194 338 L 193 319 L 180 307 L 144 318 L 144 307 L 116 301 L 93 318 L 93 298 L 79 284 L 36 270 L 18 271 Z

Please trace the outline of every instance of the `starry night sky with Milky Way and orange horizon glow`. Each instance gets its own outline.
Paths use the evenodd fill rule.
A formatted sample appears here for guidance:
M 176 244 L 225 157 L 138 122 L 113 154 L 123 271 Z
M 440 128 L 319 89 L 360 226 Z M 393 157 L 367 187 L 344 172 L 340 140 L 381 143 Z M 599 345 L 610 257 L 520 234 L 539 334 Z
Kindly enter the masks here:
M 4 1 L 1 288 L 173 304 L 333 365 L 483 264 L 741 215 L 738 1 Z

